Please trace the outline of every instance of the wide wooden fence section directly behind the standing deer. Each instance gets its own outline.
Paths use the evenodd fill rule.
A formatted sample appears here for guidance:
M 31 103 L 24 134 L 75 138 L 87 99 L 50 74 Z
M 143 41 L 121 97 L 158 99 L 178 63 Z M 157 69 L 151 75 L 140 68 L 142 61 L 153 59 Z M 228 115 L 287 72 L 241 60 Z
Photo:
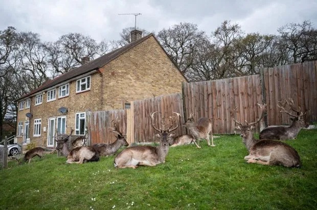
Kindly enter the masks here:
M 209 117 L 215 134 L 234 133 L 235 107 L 238 107 L 236 114 L 241 122 L 256 121 L 259 117 L 255 104 L 262 103 L 260 75 L 183 83 L 183 90 L 184 104 L 188 106 L 185 116 L 193 113 L 195 120 Z

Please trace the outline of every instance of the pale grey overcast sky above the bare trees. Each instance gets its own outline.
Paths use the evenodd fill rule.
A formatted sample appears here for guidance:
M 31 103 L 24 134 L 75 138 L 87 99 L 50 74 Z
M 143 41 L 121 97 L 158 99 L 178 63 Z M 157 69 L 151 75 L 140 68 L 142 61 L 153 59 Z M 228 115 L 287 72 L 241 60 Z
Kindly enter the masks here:
M 81 33 L 97 41 L 118 40 L 123 28 L 159 32 L 180 22 L 197 24 L 211 34 L 224 20 L 246 33 L 277 34 L 287 23 L 310 20 L 317 28 L 317 0 L 0 0 L 0 30 L 38 33 L 43 41 L 56 41 L 67 33 Z

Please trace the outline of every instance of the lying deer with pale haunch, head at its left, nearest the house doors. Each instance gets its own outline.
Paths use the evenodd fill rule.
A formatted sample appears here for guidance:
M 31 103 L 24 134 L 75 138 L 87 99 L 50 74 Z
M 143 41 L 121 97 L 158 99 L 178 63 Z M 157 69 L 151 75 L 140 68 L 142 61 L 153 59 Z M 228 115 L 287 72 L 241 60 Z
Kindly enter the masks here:
M 56 150 L 61 151 L 63 156 L 67 157 L 66 163 L 79 163 L 92 162 L 99 160 L 98 152 L 91 146 L 79 146 L 70 150 L 66 144 L 66 141 L 72 135 L 74 130 L 71 130 L 71 134 L 66 138 L 60 138 L 55 140 L 57 142 Z

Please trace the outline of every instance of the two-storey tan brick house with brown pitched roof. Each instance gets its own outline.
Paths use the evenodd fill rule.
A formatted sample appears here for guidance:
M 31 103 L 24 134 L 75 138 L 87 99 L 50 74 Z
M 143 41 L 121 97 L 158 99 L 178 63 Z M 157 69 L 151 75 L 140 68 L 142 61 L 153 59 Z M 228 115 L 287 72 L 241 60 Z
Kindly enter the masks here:
M 153 34 L 141 35 L 132 31 L 130 44 L 86 60 L 18 99 L 17 142 L 54 147 L 56 129 L 84 135 L 87 110 L 124 109 L 129 101 L 181 92 L 184 75 Z

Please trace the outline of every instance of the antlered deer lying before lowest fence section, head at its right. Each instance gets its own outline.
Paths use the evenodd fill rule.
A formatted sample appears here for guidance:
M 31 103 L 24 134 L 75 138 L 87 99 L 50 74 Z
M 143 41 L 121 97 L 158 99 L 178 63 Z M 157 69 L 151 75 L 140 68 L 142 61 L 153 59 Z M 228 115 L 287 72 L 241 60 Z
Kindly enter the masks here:
M 109 129 L 110 132 L 116 134 L 116 141 L 114 143 L 106 144 L 106 143 L 96 143 L 93 144 L 93 148 L 99 153 L 100 156 L 109 156 L 109 155 L 114 155 L 120 147 L 123 146 L 128 146 L 128 142 L 125 139 L 125 136 L 122 135 L 122 133 L 119 131 L 119 122 L 117 119 L 116 121 L 112 120 L 111 124 L 112 127 Z

